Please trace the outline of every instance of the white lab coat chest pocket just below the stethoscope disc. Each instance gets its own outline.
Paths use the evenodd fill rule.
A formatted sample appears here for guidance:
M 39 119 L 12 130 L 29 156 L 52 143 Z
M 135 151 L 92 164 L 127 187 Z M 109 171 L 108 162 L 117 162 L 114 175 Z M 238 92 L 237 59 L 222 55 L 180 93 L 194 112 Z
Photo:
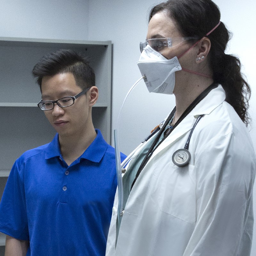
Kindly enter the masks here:
M 196 167 L 167 162 L 155 176 L 155 196 L 161 211 L 189 223 L 196 222 Z

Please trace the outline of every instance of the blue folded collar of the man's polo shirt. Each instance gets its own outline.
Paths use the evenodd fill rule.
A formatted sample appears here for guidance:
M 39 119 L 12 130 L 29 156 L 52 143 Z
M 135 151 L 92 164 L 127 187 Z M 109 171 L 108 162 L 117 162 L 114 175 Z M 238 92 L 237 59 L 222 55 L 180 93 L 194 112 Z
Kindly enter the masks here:
M 99 163 L 105 152 L 107 151 L 108 144 L 104 140 L 100 130 L 95 129 L 95 132 L 97 133 L 96 138 L 92 141 L 91 145 L 84 151 L 80 158 Z M 61 152 L 59 144 L 59 134 L 56 133 L 53 140 L 48 144 L 47 148 L 45 149 L 45 159 L 60 156 Z

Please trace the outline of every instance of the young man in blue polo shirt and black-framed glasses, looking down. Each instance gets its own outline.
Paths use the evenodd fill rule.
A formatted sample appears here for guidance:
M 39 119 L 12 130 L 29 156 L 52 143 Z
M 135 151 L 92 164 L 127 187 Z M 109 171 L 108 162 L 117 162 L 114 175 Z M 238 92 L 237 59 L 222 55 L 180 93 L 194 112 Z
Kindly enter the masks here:
M 92 124 L 94 72 L 84 56 L 60 50 L 33 75 L 57 134 L 13 165 L 0 204 L 5 255 L 105 255 L 117 182 L 114 148 Z

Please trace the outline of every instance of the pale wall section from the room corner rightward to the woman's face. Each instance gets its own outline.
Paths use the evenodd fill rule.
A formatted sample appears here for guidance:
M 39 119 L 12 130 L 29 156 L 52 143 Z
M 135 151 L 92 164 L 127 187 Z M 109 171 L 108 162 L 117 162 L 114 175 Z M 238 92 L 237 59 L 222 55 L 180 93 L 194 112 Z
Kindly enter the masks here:
M 89 40 L 112 40 L 113 43 L 112 129 L 117 127 L 117 116 L 126 93 L 141 77 L 136 64 L 140 57 L 139 44 L 146 39 L 148 12 L 155 3 L 154 0 L 89 3 Z M 118 129 L 121 151 L 130 153 L 173 107 L 173 95 L 149 94 L 141 81 L 121 113 Z

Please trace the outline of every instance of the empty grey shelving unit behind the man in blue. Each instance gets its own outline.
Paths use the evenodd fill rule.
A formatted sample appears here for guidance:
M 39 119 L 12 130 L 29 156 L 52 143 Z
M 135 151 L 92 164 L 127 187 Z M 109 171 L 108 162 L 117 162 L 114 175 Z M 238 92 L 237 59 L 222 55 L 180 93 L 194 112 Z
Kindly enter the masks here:
M 60 49 L 88 57 L 99 89 L 92 122 L 110 144 L 111 41 L 0 37 L 0 198 L 15 160 L 26 150 L 50 142 L 56 134 L 44 111 L 37 108 L 41 92 L 32 69 L 45 54 Z M 0 254 L 4 245 L 5 235 L 0 233 Z

